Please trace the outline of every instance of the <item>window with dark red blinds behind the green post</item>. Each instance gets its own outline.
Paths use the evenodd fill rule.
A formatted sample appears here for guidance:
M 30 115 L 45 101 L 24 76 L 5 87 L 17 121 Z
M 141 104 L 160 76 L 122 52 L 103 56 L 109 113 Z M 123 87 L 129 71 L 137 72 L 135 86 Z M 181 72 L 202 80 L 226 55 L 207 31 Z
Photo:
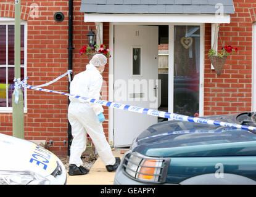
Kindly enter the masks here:
M 23 80 L 25 61 L 25 25 L 20 26 L 20 79 Z M 12 111 L 12 93 L 14 92 L 14 22 L 0 21 L 0 112 Z M 23 95 L 26 94 L 22 89 Z M 25 100 L 24 100 L 25 103 Z

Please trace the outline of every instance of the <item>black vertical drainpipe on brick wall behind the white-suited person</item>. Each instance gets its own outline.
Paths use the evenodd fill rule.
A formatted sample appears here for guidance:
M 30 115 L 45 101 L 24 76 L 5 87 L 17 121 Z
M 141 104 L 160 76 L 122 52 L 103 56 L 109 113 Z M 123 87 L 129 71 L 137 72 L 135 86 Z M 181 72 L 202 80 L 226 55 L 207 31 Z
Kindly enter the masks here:
M 68 0 L 68 70 L 73 69 L 73 0 Z M 72 74 L 71 74 L 72 79 Z M 68 93 L 70 93 L 69 90 L 70 82 L 68 81 Z M 70 101 L 68 99 L 68 105 Z M 72 133 L 71 133 L 71 125 L 68 121 L 68 156 L 70 156 L 70 146 L 72 143 Z

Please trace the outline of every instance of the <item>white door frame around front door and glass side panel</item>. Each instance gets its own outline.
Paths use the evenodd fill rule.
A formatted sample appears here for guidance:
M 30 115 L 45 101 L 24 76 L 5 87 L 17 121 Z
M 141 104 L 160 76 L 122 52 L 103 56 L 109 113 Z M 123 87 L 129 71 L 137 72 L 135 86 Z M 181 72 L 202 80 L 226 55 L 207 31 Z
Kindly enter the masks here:
M 175 25 L 199 25 L 200 26 L 200 81 L 199 81 L 199 115 L 204 116 L 204 23 L 109 23 L 109 48 L 112 49 L 113 58 L 109 58 L 109 101 L 114 101 L 114 25 L 169 25 L 169 79 L 173 81 L 173 33 Z M 173 86 L 168 86 L 168 112 L 173 113 Z M 114 110 L 109 108 L 109 143 L 114 145 Z

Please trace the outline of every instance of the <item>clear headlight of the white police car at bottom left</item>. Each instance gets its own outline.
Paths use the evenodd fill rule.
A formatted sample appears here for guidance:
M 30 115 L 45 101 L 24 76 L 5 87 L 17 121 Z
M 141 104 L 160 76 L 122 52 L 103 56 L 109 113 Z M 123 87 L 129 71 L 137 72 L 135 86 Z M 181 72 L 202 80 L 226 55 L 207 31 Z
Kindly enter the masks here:
M 31 171 L 0 171 L 0 185 L 49 185 L 49 180 Z

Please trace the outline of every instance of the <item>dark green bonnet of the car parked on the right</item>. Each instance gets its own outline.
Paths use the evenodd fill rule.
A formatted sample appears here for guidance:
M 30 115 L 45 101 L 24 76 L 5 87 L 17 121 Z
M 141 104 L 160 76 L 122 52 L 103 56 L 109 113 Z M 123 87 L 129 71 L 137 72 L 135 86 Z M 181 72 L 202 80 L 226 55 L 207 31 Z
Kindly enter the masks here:
M 255 155 L 256 134 L 243 129 L 168 121 L 142 132 L 134 141 L 133 151 L 147 156 Z

